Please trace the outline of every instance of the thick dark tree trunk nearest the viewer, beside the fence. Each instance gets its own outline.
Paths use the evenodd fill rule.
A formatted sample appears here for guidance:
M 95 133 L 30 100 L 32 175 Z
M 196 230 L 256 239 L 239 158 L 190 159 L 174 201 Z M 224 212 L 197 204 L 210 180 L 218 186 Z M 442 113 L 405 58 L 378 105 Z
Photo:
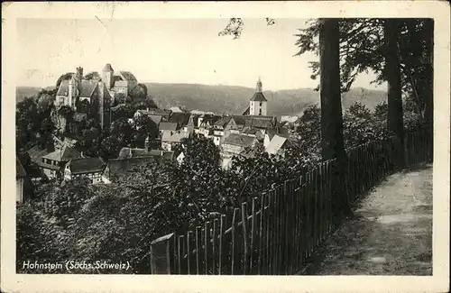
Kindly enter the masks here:
M 340 81 L 340 39 L 338 19 L 321 19 L 319 30 L 319 63 L 321 98 L 321 155 L 334 160 L 333 190 L 336 221 L 341 215 L 351 215 L 345 175 L 346 155 L 343 139 L 343 114 Z

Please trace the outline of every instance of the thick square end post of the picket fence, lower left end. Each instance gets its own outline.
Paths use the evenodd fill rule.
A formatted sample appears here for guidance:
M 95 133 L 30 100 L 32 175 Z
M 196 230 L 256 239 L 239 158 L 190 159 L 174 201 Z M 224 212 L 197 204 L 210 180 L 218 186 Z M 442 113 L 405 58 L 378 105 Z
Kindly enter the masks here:
M 173 246 L 175 234 L 170 233 L 155 239 L 151 243 L 151 270 L 152 275 L 170 274 L 173 268 Z

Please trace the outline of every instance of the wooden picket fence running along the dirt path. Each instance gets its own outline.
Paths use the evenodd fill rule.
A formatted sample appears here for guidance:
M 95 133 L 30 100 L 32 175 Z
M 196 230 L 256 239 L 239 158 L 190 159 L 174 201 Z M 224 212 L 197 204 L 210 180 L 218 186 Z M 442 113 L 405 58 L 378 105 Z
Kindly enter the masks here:
M 424 133 L 406 135 L 408 164 L 430 161 L 431 142 Z M 345 179 L 336 179 L 336 160 L 290 179 L 235 208 L 231 215 L 187 233 L 171 233 L 152 242 L 152 274 L 291 275 L 336 229 L 340 204 L 352 203 L 391 173 L 396 143 L 371 142 L 348 151 Z M 337 184 L 345 197 L 334 196 Z M 340 189 L 344 190 L 344 189 Z

